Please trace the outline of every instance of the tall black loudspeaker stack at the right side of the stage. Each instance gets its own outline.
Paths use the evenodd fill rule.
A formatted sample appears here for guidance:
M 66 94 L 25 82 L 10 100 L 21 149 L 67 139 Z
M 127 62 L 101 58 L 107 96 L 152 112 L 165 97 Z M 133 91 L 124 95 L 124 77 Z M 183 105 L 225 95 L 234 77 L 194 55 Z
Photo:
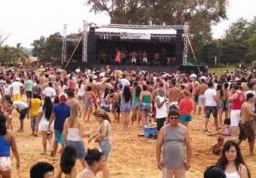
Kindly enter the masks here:
M 182 64 L 182 53 L 183 53 L 183 41 L 182 41 L 182 29 L 177 30 L 176 34 L 176 48 L 175 48 L 175 65 Z

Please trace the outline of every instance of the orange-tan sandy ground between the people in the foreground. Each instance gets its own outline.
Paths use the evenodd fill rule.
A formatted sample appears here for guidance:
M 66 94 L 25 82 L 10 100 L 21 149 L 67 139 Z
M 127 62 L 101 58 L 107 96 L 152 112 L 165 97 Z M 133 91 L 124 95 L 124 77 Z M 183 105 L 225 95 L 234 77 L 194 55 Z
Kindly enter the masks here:
M 17 137 L 17 147 L 20 152 L 21 168 L 17 170 L 15 167 L 14 155 L 11 156 L 12 160 L 12 176 L 11 177 L 29 177 L 29 169 L 32 164 L 37 161 L 47 161 L 56 167 L 56 171 L 59 169 L 59 161 L 52 161 L 49 155 L 40 155 L 42 150 L 41 134 L 38 137 L 30 136 L 30 122 L 25 120 L 25 131 L 23 133 L 17 133 L 19 126 L 19 120 L 17 119 L 17 112 L 13 112 L 13 125 L 14 132 Z M 113 116 L 111 116 L 113 119 Z M 192 143 L 192 161 L 190 170 L 187 171 L 188 178 L 203 177 L 203 171 L 209 165 L 215 164 L 218 160 L 217 155 L 208 153 L 208 149 L 215 142 L 217 142 L 218 136 L 209 137 L 206 132 L 203 132 L 203 116 L 194 116 L 192 122 L 189 125 L 191 143 Z M 122 120 L 121 120 L 122 121 Z M 121 122 L 120 121 L 120 122 Z M 90 117 L 90 123 L 85 123 L 86 130 L 89 131 L 93 128 L 96 131 L 98 122 Z M 111 173 L 110 177 L 114 178 L 156 178 L 161 177 L 160 170 L 157 169 L 157 161 L 155 154 L 156 140 L 147 139 L 145 137 L 138 137 L 137 134 L 141 131 L 137 125 L 130 125 L 129 131 L 122 131 L 121 123 L 112 123 L 112 150 L 108 162 L 108 167 Z M 213 125 L 213 119 L 209 122 L 209 128 L 215 131 Z M 228 140 L 230 137 L 224 138 Z M 87 139 L 84 139 L 87 148 L 96 147 L 96 143 L 87 143 Z M 49 148 L 49 147 L 48 147 Z M 59 146 L 60 148 L 60 146 Z M 248 164 L 251 170 L 251 177 L 256 177 L 256 158 L 250 158 L 248 156 L 248 143 L 243 142 L 241 145 L 242 154 L 245 157 L 245 162 Z M 59 158 L 59 153 L 58 153 Z M 81 164 L 78 162 L 78 170 L 81 173 Z M 102 177 L 101 174 L 98 177 Z

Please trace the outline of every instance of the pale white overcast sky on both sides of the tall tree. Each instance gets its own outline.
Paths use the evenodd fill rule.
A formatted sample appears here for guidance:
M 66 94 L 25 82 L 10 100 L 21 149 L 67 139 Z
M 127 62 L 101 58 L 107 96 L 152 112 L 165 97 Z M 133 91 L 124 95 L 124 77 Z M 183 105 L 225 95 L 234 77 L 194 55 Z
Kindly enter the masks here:
M 63 24 L 68 24 L 68 34 L 82 29 L 83 20 L 97 25 L 108 24 L 105 14 L 89 12 L 84 5 L 86 0 L 1 0 L 0 35 L 10 35 L 5 44 L 15 46 L 18 42 L 23 47 L 30 47 L 32 41 L 61 32 Z M 229 0 L 228 20 L 212 26 L 213 36 L 221 38 L 230 23 L 239 17 L 252 20 L 256 16 L 256 0 Z

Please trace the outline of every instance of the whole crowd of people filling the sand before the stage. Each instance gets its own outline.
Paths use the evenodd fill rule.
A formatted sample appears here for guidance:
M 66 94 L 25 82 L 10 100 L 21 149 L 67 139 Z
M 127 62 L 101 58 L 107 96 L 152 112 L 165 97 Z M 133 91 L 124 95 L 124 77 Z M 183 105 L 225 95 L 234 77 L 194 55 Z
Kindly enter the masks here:
M 251 177 L 239 144 L 248 139 L 249 154 L 254 155 L 254 83 L 256 73 L 249 69 L 216 74 L 181 74 L 153 71 L 80 68 L 66 71 L 50 67 L 0 67 L 0 175 L 11 177 L 10 148 L 20 167 L 20 158 L 12 125 L 12 110 L 19 113 L 20 128 L 30 119 L 31 135 L 41 131 L 41 155 L 56 159 L 61 146 L 60 170 L 56 177 L 76 177 L 76 160 L 84 170 L 81 178 L 110 174 L 111 117 L 122 120 L 123 131 L 130 125 L 157 127 L 157 167 L 163 178 L 186 176 L 190 168 L 192 148 L 189 122 L 195 114 L 205 114 L 202 130 L 206 137 L 223 138 L 209 150 L 221 154 L 215 166 L 206 169 L 205 177 Z M 24 95 L 23 95 L 24 94 Z M 26 95 L 26 97 L 25 97 Z M 198 112 L 197 112 L 198 109 Z M 216 132 L 209 131 L 211 114 Z M 224 115 L 224 119 L 223 119 Z M 99 122 L 95 132 L 85 131 L 84 124 L 93 116 Z M 131 121 L 131 124 L 130 124 Z M 224 121 L 224 122 L 223 122 Z M 226 125 L 226 126 L 224 126 Z M 223 131 L 221 131 L 224 129 Z M 53 138 L 54 135 L 54 138 Z M 239 136 L 239 137 L 237 137 Z M 99 143 L 99 148 L 85 149 L 83 138 Z M 161 154 L 163 153 L 163 156 Z M 218 172 L 220 176 L 214 174 Z M 222 171 L 222 172 L 221 172 Z M 41 175 L 41 176 L 39 176 Z M 54 177 L 54 167 L 46 162 L 32 166 L 30 177 Z

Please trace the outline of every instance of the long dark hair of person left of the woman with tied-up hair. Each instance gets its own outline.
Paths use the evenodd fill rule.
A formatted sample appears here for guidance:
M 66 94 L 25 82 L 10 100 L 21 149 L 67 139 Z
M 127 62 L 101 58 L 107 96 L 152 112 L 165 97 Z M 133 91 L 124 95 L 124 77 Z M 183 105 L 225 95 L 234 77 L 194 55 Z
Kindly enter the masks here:
M 77 152 L 74 146 L 67 145 L 60 157 L 60 168 L 63 173 L 70 173 L 75 166 Z

